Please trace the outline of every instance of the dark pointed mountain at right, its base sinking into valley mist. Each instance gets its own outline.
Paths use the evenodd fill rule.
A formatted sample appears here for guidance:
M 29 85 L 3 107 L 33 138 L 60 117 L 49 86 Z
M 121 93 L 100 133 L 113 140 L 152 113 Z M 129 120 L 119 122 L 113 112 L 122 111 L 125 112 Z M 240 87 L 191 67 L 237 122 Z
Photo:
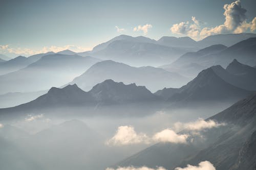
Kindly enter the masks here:
M 236 65 L 236 68 L 233 68 Z M 243 74 L 232 75 L 221 66 L 212 66 L 201 71 L 198 76 L 185 86 L 174 89 L 164 88 L 155 94 L 169 102 L 194 103 L 204 101 L 237 101 L 256 90 L 256 76 L 253 67 L 243 70 L 245 65 L 234 60 L 229 64 L 229 70 L 242 71 Z

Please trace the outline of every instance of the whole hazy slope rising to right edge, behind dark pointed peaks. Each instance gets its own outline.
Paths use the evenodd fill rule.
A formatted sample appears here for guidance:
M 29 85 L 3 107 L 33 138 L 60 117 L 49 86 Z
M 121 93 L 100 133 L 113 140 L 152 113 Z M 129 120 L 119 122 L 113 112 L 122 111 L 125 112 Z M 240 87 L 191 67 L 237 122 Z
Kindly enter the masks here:
M 161 68 L 194 77 L 203 67 L 212 65 L 226 67 L 233 59 L 254 66 L 256 64 L 255 49 L 256 38 L 249 38 L 229 47 L 212 45 L 195 53 L 186 53 L 175 62 L 163 65 Z M 191 64 L 193 64 L 192 67 Z

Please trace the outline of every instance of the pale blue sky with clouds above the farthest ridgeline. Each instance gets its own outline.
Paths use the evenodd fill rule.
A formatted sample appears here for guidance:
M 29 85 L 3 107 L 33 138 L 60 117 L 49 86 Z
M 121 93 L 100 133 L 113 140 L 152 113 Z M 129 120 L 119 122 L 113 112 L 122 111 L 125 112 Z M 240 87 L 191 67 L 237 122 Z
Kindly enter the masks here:
M 255 33 L 255 8 L 255 0 L 1 0 L 0 54 L 84 52 L 121 34 L 200 40 Z

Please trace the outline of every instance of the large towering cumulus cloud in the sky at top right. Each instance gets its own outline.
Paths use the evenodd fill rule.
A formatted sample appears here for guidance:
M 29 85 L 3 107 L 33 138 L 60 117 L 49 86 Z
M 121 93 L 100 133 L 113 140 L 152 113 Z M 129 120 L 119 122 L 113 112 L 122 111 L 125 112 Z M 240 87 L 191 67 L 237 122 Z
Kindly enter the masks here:
M 209 35 L 222 33 L 242 33 L 256 30 L 256 17 L 252 21 L 246 20 L 246 9 L 242 8 L 241 1 L 224 5 L 225 22 L 214 28 L 201 28 L 202 22 L 192 17 L 192 22 L 176 23 L 170 28 L 175 34 L 188 35 L 194 39 L 202 39 Z

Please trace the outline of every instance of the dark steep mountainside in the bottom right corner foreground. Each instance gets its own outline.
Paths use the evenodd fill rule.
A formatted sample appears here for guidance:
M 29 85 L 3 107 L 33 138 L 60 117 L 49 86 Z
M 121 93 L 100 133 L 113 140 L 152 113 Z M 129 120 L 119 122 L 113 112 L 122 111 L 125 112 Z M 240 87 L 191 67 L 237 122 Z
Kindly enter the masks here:
M 216 169 L 255 169 L 255 131 L 256 131 L 256 95 L 239 101 L 228 109 L 209 119 L 226 122 L 228 133 L 197 154 L 188 157 L 182 164 L 208 160 Z M 248 149 L 251 149 L 250 151 Z M 253 153 L 252 153 L 253 152 Z

